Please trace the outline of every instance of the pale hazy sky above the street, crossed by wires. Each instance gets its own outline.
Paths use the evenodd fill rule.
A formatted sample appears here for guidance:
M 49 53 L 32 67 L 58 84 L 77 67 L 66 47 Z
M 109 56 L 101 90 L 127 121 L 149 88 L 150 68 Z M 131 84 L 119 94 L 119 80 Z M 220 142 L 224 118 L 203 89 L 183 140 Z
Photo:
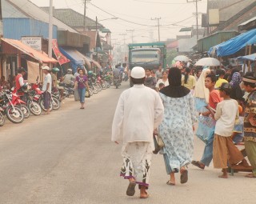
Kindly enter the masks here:
M 38 6 L 49 6 L 50 2 L 50 0 L 30 1 Z M 84 0 L 53 1 L 56 8 L 71 8 L 83 14 Z M 206 6 L 206 0 L 198 2 L 198 12 L 205 13 Z M 154 39 L 158 39 L 157 21 L 151 18 L 161 18 L 161 40 L 184 34 L 178 33 L 178 30 L 184 26 L 196 25 L 196 18 L 193 14 L 196 10 L 195 3 L 188 3 L 187 0 L 91 0 L 86 2 L 86 7 L 86 15 L 92 19 L 97 16 L 99 22 L 106 18 L 113 18 L 113 16 L 122 18 L 101 22 L 103 26 L 111 30 L 113 42 L 122 43 L 124 37 L 126 43 L 131 42 L 131 32 L 126 30 L 134 30 L 134 42 L 149 42 L 152 35 Z M 198 24 L 201 25 L 201 15 L 198 18 Z

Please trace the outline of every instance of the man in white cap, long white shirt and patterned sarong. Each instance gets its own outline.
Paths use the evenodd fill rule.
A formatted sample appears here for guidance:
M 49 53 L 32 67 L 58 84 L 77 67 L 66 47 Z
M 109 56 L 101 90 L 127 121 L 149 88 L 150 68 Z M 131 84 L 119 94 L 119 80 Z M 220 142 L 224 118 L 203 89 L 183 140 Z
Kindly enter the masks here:
M 138 184 L 140 198 L 148 198 L 146 189 L 154 149 L 152 134 L 162 122 L 163 105 L 159 94 L 144 86 L 145 70 L 142 67 L 135 66 L 130 79 L 134 86 L 123 91 L 118 100 L 111 140 L 117 144 L 123 140 L 120 175 L 129 179 L 126 194 L 133 196 Z

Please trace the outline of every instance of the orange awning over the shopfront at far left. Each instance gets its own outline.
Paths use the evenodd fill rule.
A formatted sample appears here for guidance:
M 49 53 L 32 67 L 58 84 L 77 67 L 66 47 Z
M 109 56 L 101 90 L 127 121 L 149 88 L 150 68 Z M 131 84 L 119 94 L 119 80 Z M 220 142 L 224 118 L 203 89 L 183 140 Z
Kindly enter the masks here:
M 22 53 L 30 55 L 30 57 L 36 59 L 38 62 L 41 63 L 58 63 L 58 61 L 54 58 L 49 58 L 47 54 L 41 53 L 37 50 L 34 50 L 30 46 L 26 46 L 22 42 L 14 39 L 8 39 L 8 38 L 1 38 L 3 42 L 6 42 L 10 46 L 13 46 L 14 48 L 22 51 Z M 8 53 L 6 53 L 8 54 Z

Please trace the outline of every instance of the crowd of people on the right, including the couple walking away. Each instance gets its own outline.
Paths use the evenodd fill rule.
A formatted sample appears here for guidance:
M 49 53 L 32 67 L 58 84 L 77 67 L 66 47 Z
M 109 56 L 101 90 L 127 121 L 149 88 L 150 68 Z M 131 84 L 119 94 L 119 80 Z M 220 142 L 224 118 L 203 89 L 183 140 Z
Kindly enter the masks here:
M 111 140 L 123 139 L 121 176 L 129 179 L 126 194 L 133 196 L 138 184 L 140 198 L 148 198 L 154 134 L 164 143 L 160 150 L 170 176 L 167 185 L 188 181 L 187 166 L 204 170 L 213 160 L 228 178 L 232 166 L 248 167 L 247 178 L 256 178 L 256 78 L 231 67 L 192 70 L 175 66 L 156 72 L 134 67 L 134 86 L 122 92 L 114 114 Z M 196 124 L 198 124 L 197 130 Z M 144 128 L 142 128 L 144 127 Z M 154 132 L 154 134 L 153 134 Z M 193 160 L 194 132 L 205 142 L 200 160 Z M 154 146 L 155 144 L 155 146 Z M 245 150 L 238 150 L 237 144 Z

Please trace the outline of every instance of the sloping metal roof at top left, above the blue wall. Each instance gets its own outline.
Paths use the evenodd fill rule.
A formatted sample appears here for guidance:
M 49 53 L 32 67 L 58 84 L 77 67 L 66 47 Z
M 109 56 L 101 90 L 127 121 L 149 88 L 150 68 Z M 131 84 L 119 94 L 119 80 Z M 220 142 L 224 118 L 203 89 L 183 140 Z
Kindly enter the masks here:
M 27 18 L 49 22 L 49 14 L 28 0 L 2 0 L 2 2 L 6 5 L 6 7 L 2 7 L 4 11 L 2 18 L 12 18 L 12 15 L 15 14 L 16 18 L 24 18 L 25 15 Z M 58 30 L 69 30 L 70 32 L 78 33 L 57 18 L 53 18 L 53 24 L 58 26 Z

